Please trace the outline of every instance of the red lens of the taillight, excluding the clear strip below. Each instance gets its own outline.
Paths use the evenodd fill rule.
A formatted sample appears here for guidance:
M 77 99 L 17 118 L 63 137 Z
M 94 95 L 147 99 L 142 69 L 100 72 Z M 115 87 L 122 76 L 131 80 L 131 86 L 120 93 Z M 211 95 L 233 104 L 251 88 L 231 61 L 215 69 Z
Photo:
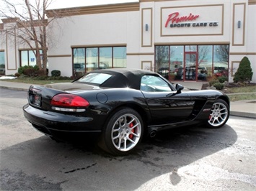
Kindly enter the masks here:
M 52 98 L 50 105 L 59 107 L 87 107 L 89 102 L 78 95 L 61 93 Z

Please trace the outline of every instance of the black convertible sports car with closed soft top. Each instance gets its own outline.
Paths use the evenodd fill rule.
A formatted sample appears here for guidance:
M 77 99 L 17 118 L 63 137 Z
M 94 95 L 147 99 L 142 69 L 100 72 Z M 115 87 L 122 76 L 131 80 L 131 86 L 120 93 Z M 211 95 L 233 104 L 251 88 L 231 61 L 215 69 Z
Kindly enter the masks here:
M 53 139 L 100 133 L 106 152 L 125 155 L 146 134 L 194 124 L 219 128 L 229 98 L 218 90 L 182 90 L 146 70 L 94 70 L 72 83 L 31 85 L 25 118 Z

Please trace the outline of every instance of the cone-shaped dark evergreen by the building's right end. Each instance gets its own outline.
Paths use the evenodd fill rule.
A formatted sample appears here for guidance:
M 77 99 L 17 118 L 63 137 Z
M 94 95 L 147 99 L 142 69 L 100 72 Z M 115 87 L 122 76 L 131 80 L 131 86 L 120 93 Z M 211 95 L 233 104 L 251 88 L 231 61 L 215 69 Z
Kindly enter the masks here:
M 239 63 L 239 67 L 237 69 L 237 73 L 234 74 L 234 82 L 238 83 L 244 83 L 249 82 L 252 80 L 252 67 L 250 60 L 248 57 L 243 57 L 241 62 Z

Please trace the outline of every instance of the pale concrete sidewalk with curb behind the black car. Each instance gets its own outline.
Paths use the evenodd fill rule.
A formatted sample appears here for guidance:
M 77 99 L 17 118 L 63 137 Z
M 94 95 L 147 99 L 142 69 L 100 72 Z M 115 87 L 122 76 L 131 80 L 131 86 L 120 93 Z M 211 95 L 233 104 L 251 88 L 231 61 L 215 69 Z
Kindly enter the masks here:
M 203 83 L 195 82 L 178 82 L 185 88 L 197 89 L 202 88 Z M 27 91 L 30 84 L 26 83 L 12 83 L 0 80 L 0 88 L 6 88 L 10 90 L 23 90 Z M 256 118 L 256 100 L 247 101 L 231 101 L 230 103 L 230 115 L 231 116 L 242 116 L 248 118 Z

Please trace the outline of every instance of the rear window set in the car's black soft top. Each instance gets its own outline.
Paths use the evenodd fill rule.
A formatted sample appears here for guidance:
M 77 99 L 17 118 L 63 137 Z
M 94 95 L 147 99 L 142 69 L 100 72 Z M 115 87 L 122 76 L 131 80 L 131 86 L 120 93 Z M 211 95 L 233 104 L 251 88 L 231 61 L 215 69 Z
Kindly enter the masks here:
M 111 77 L 110 74 L 105 73 L 89 73 L 87 75 L 84 75 L 82 78 L 77 80 L 80 83 L 94 83 L 94 84 L 102 84 L 107 79 Z

